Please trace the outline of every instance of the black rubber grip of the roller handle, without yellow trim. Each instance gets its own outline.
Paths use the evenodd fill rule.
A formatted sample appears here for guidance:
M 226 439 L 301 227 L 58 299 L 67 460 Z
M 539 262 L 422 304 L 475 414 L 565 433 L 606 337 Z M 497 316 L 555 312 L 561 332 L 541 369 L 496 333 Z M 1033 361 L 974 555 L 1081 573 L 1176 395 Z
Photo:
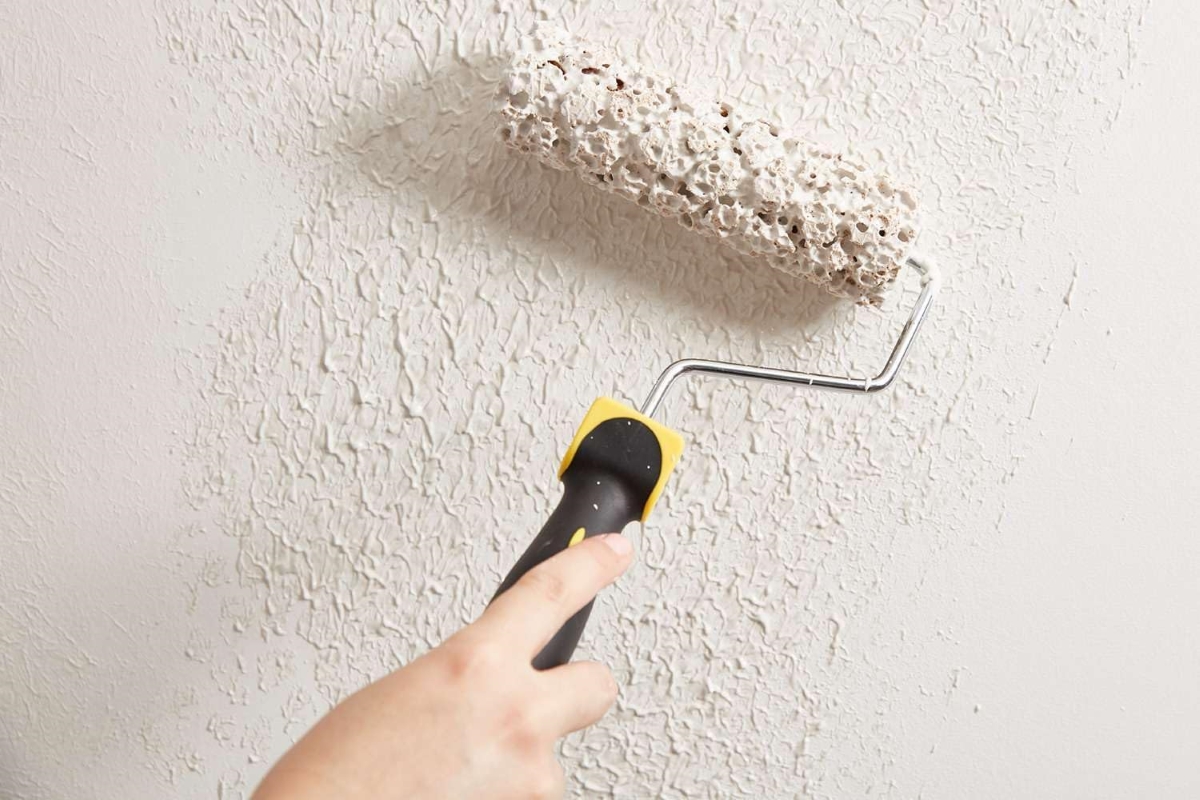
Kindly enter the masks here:
M 593 428 L 583 437 L 563 473 L 563 498 L 558 507 L 492 600 L 526 572 L 566 549 L 580 529 L 587 539 L 620 533 L 629 523 L 641 519 L 662 467 L 658 437 L 638 420 L 614 417 Z M 589 602 L 554 634 L 533 660 L 533 666 L 548 669 L 570 661 L 590 613 Z

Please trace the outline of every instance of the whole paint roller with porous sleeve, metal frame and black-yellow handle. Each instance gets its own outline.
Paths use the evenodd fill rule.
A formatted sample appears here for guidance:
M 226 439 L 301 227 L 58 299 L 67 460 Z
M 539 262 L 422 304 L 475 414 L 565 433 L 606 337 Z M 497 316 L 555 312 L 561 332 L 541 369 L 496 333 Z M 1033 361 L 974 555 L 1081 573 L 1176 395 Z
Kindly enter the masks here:
M 918 230 L 911 191 L 557 26 L 541 25 L 523 43 L 500 80 L 497 112 L 509 146 L 840 297 L 878 306 L 905 266 L 922 279 L 874 378 L 684 359 L 662 372 L 640 410 L 596 399 L 559 465 L 563 497 L 499 596 L 583 539 L 647 519 L 683 451 L 683 438 L 650 419 L 678 378 L 696 373 L 860 395 L 884 390 L 938 281 L 929 263 L 911 253 Z M 592 603 L 575 614 L 534 666 L 568 662 L 590 612 Z

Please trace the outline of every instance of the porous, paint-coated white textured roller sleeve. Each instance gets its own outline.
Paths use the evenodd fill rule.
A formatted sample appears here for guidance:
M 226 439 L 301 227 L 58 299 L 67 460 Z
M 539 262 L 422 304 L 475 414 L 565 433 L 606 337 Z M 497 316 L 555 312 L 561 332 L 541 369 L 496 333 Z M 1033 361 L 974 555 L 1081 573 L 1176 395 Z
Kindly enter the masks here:
M 527 40 L 498 107 L 509 145 L 863 305 L 917 236 L 887 176 L 557 28 Z

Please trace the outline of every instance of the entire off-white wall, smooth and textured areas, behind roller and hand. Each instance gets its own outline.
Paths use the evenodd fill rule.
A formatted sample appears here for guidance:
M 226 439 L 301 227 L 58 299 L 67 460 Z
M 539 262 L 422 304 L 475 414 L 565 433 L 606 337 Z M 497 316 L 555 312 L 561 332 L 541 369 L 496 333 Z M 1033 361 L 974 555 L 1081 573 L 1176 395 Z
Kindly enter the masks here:
M 1200 18 L 1147 5 L 0 4 L 0 795 L 245 796 L 479 613 L 593 397 L 882 361 L 912 276 L 505 149 L 539 18 L 887 164 L 947 277 L 887 395 L 667 398 L 572 796 L 1200 794 Z

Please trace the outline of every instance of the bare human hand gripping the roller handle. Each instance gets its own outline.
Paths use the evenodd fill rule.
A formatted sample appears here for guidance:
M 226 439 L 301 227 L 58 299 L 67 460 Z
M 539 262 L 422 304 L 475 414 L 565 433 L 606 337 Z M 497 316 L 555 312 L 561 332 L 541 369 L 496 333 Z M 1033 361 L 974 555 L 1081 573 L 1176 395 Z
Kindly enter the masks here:
M 538 565 L 475 622 L 335 706 L 254 800 L 560 798 L 554 744 L 602 717 L 617 682 L 604 664 L 530 661 L 631 561 L 610 534 Z

